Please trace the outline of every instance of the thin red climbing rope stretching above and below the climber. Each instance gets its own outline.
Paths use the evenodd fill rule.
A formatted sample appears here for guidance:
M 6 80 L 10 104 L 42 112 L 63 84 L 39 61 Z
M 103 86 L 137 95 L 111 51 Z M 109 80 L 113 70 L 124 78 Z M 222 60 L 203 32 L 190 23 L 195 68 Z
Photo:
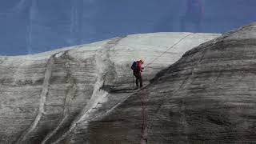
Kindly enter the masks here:
M 192 33 L 194 34 L 194 33 Z M 177 46 L 182 40 L 189 37 L 192 34 L 187 34 L 185 37 L 181 38 L 178 42 L 175 42 L 174 45 L 170 46 L 166 51 L 164 51 L 162 54 L 160 54 L 157 58 L 154 58 L 151 62 L 149 62 L 144 68 L 147 66 L 150 66 L 152 63 L 154 63 L 158 58 L 161 58 L 163 54 L 166 54 L 170 49 L 172 49 L 174 46 Z M 134 83 L 134 81 L 133 81 Z M 147 130 L 150 126 L 150 122 L 147 121 L 146 117 L 146 93 L 145 90 L 142 89 L 141 91 L 141 102 L 142 102 L 142 131 L 141 131 L 141 144 L 147 143 Z

